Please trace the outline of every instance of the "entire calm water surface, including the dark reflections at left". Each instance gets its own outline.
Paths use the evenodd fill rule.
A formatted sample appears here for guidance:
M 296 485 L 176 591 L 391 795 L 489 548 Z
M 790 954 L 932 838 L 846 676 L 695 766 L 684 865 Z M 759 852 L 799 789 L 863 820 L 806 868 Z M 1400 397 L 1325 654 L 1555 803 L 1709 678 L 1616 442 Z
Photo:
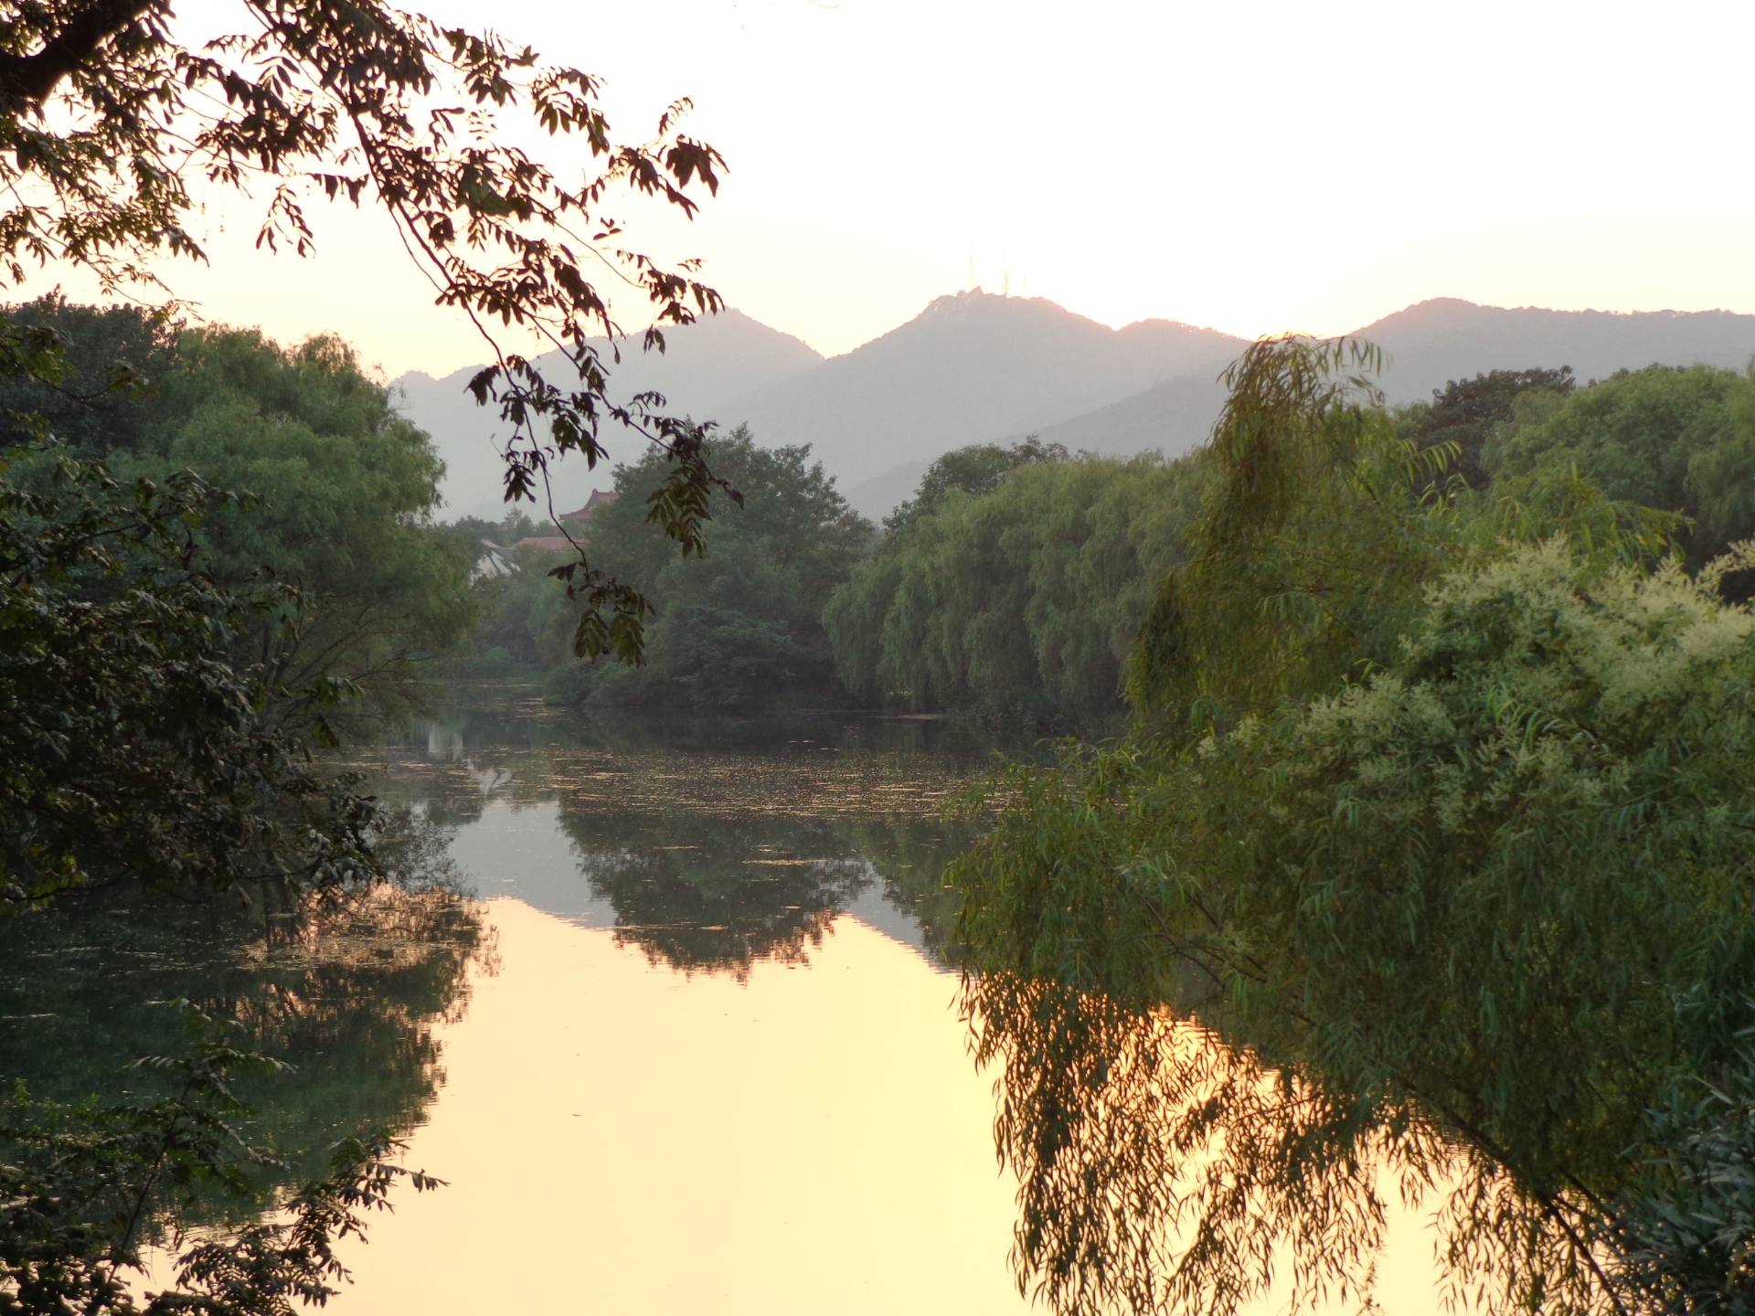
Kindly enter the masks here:
M 263 951 L 75 921 L 0 946 L 0 1077 L 112 1086 L 176 1049 L 151 997 L 240 1018 L 298 1065 L 258 1095 L 283 1148 L 390 1125 L 448 1181 L 344 1249 L 344 1316 L 1028 1311 L 937 884 L 985 762 L 925 723 L 630 728 L 474 691 L 360 767 L 484 926 Z M 1429 1256 L 1392 1234 L 1392 1316 L 1436 1311 Z

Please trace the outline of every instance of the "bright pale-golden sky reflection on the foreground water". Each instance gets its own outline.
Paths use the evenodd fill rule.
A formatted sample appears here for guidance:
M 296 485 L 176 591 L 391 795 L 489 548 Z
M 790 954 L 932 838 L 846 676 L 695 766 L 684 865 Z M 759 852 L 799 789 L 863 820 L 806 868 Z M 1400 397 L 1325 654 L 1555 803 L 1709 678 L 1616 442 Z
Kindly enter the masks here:
M 653 969 L 493 900 L 502 970 L 444 1030 L 356 1312 L 1021 1311 L 1013 1183 L 953 979 L 842 918 L 800 970 Z

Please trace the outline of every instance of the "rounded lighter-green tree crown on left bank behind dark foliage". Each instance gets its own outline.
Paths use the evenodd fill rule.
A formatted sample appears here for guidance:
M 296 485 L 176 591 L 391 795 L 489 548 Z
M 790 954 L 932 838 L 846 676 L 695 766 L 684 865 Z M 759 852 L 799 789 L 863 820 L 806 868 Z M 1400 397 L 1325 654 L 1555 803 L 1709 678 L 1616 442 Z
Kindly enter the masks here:
M 340 340 L 283 351 L 240 330 L 184 333 L 154 412 L 118 470 L 191 468 L 249 490 L 247 512 L 204 523 L 209 570 L 240 584 L 269 565 L 305 597 L 277 679 L 340 677 L 379 709 L 405 707 L 472 614 L 465 565 L 432 526 L 444 468 L 426 435 Z

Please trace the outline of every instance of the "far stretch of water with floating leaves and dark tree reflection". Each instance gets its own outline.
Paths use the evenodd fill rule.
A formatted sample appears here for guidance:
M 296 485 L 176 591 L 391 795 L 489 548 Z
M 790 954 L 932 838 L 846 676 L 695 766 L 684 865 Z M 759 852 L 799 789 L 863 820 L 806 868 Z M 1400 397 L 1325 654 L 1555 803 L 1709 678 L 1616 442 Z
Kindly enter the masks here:
M 370 767 L 463 828 L 453 856 L 483 895 L 742 979 L 807 962 L 844 914 L 949 963 L 937 877 L 967 830 L 939 814 L 983 760 L 944 740 L 920 721 L 567 723 L 490 690 Z

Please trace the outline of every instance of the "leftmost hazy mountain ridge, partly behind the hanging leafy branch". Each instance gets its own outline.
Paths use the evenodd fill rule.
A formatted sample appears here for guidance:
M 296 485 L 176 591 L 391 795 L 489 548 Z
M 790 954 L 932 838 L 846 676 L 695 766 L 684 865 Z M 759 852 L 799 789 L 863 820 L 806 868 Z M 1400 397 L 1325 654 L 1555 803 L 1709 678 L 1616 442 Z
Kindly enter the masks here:
M 609 358 L 609 340 L 595 340 L 604 358 Z M 623 342 L 621 363 L 611 363 L 612 397 L 628 398 L 656 390 L 670 409 L 695 419 L 709 419 L 725 398 L 753 388 L 777 384 L 804 374 L 821 363 L 821 354 L 790 333 L 781 333 L 739 311 L 723 311 L 693 325 L 665 330 L 665 351 L 641 351 L 639 339 Z M 541 365 L 555 370 L 563 365 L 558 353 L 541 358 Z M 456 370 L 444 379 L 412 372 L 391 384 L 400 393 L 400 411 L 433 437 L 433 446 L 446 463 L 444 493 L 446 518 L 483 516 L 498 519 L 505 514 L 502 502 L 504 463 L 493 435 L 502 430 L 500 418 L 488 407 L 477 407 L 465 391 L 470 375 L 479 367 Z M 555 377 L 560 379 L 558 370 Z M 616 460 L 639 456 L 637 435 L 616 433 L 605 428 L 604 442 Z M 590 470 L 574 458 L 555 467 L 555 505 L 558 511 L 581 505 L 593 488 L 609 488 L 607 470 Z

